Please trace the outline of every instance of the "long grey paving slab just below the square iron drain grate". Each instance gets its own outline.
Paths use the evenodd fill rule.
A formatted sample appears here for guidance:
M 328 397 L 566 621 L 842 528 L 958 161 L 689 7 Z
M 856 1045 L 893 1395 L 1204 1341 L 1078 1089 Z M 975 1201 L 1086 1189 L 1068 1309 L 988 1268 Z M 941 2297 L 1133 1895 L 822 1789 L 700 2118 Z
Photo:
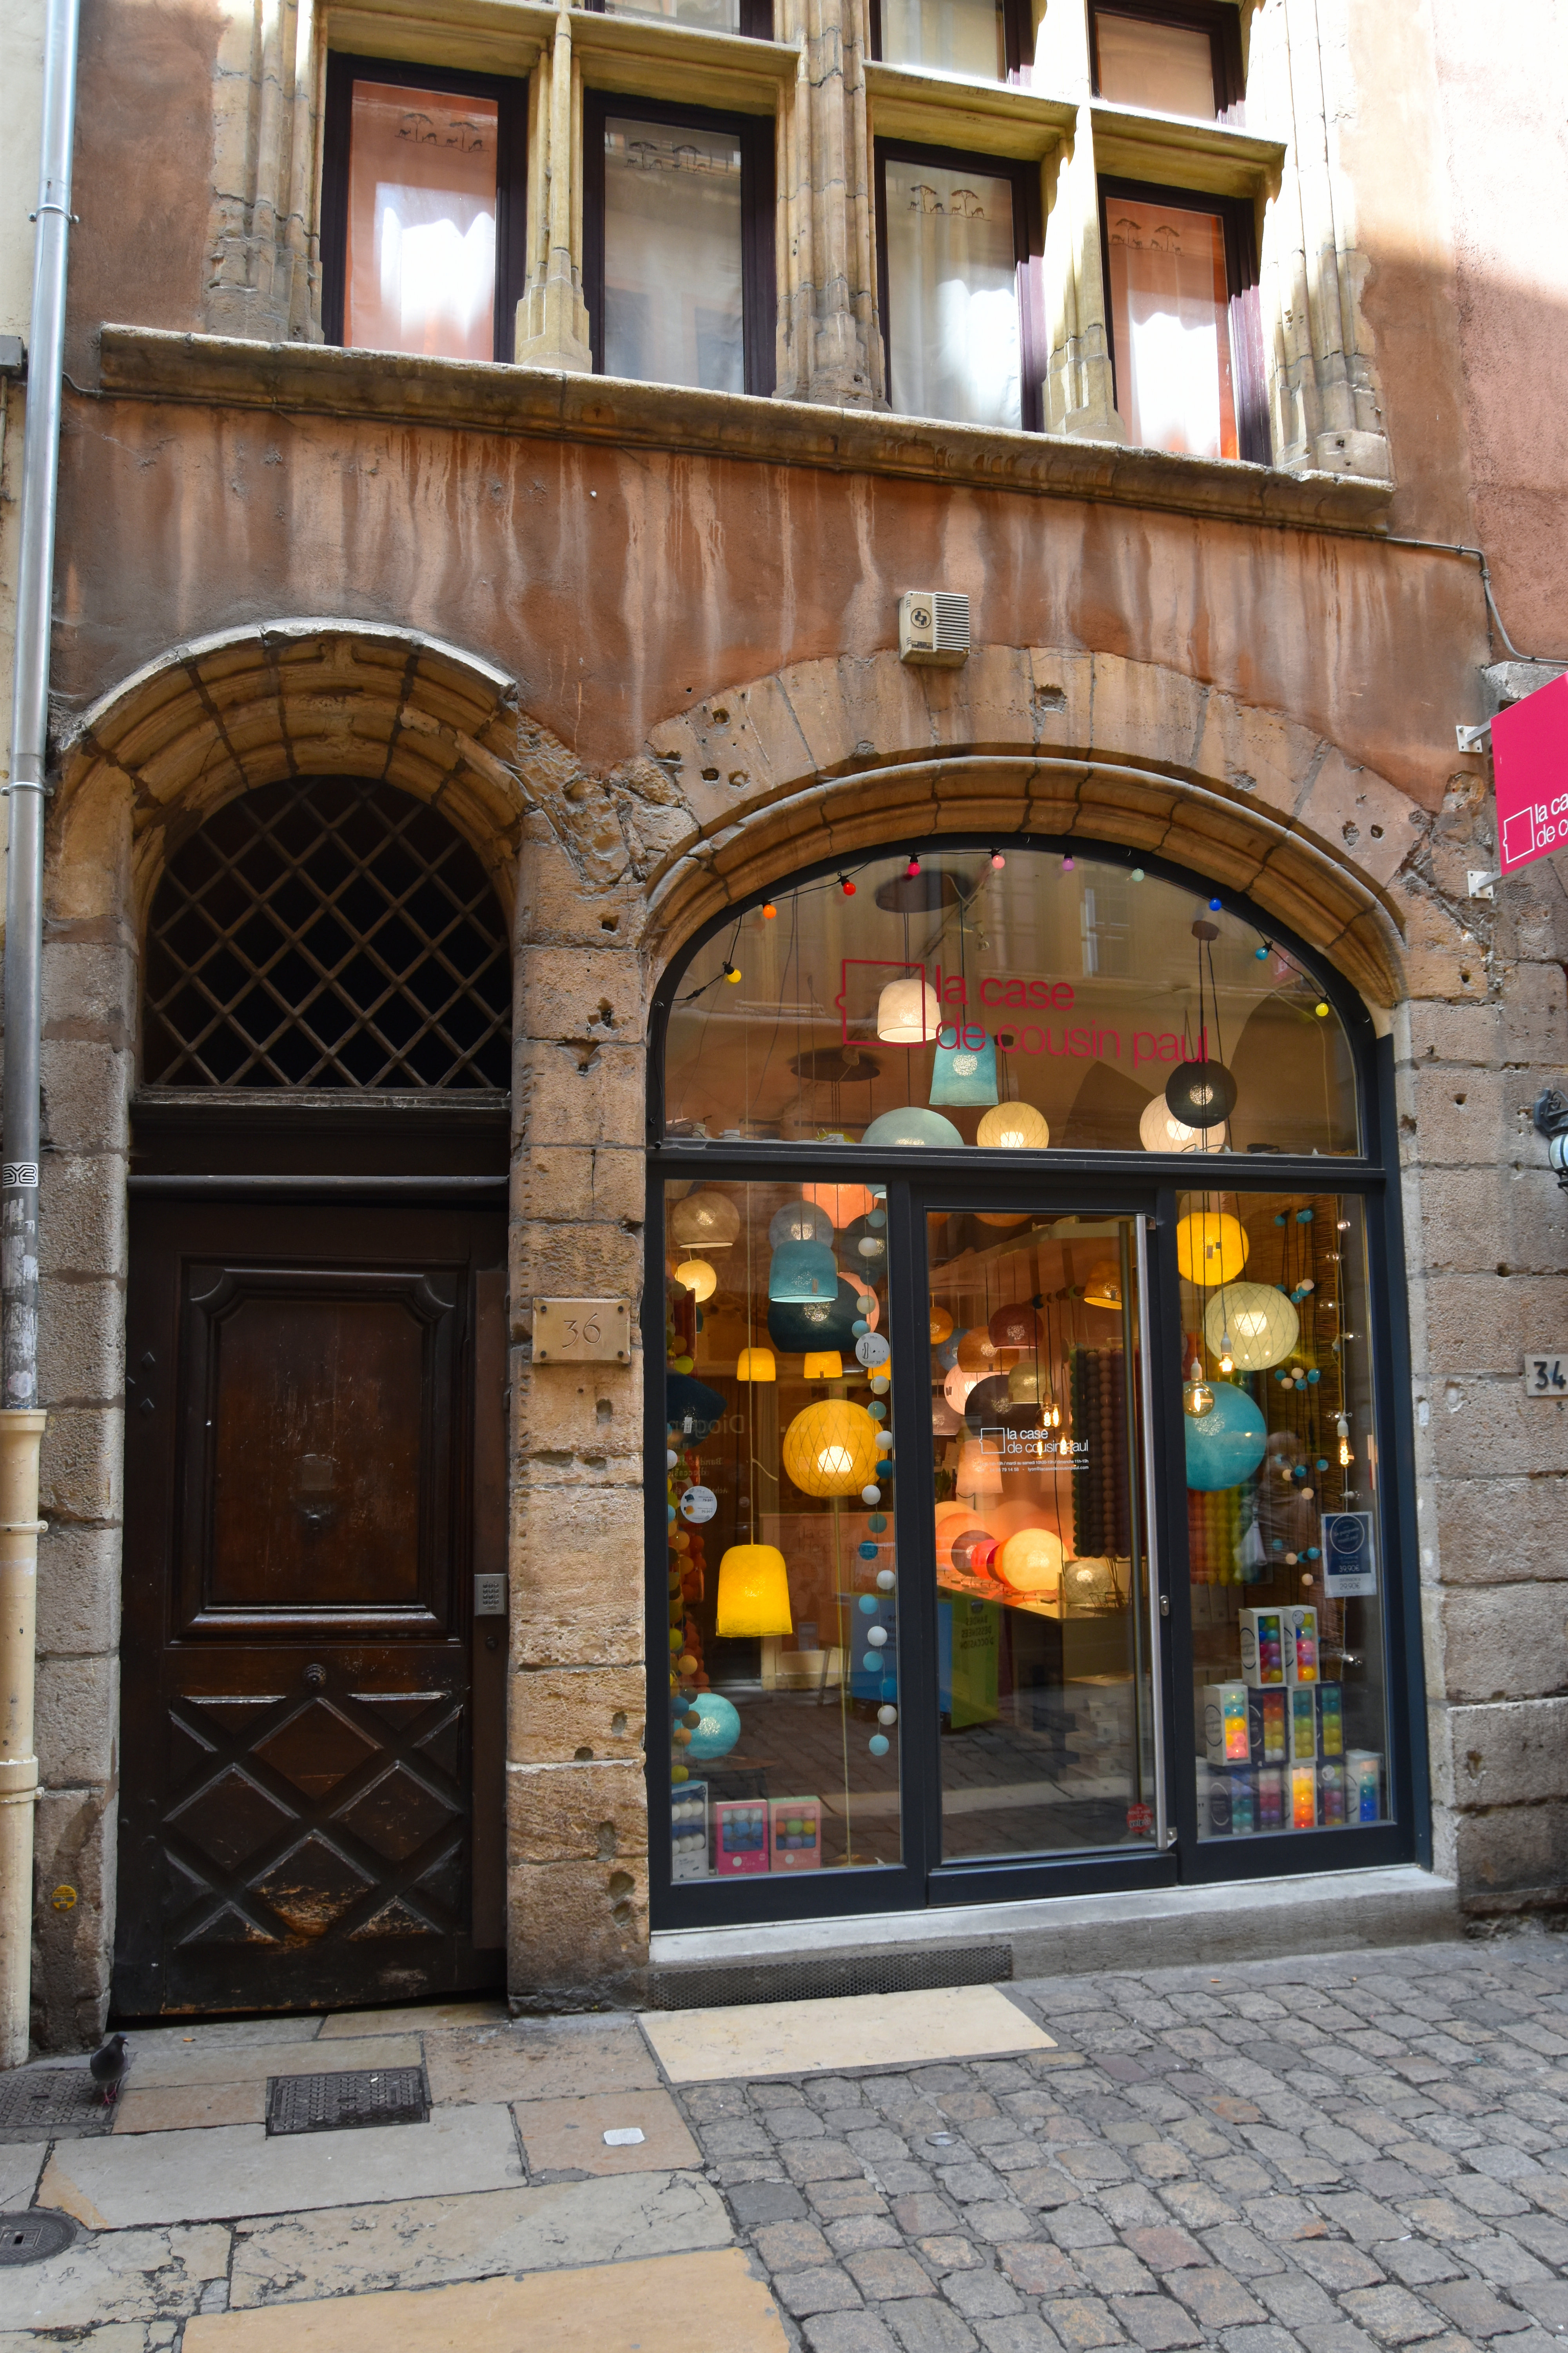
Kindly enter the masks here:
M 284 2134 L 261 2125 L 139 2132 L 56 2146 L 38 2188 L 92 2231 L 292 2214 L 496 2191 L 522 2179 L 510 2108 L 437 2108 L 428 2125 Z

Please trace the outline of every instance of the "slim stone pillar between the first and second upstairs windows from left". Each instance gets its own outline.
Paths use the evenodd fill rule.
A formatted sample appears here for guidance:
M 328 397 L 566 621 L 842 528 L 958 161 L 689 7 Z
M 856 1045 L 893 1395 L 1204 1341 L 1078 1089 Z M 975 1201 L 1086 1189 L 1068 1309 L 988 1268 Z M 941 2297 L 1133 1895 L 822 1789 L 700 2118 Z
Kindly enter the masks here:
M 517 304 L 517 365 L 592 374 L 583 301 L 583 68 L 571 19 L 538 59 L 529 99 L 529 275 Z

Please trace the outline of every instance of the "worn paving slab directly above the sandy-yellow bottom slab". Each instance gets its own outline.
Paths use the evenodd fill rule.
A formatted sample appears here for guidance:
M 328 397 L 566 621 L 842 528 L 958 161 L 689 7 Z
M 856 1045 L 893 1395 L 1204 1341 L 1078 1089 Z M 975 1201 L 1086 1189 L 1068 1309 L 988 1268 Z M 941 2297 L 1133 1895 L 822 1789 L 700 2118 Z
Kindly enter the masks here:
M 362 2297 L 731 2242 L 724 2200 L 701 2174 L 623 2174 L 480 2198 L 334 2207 L 235 2231 L 228 2301 L 240 2311 Z

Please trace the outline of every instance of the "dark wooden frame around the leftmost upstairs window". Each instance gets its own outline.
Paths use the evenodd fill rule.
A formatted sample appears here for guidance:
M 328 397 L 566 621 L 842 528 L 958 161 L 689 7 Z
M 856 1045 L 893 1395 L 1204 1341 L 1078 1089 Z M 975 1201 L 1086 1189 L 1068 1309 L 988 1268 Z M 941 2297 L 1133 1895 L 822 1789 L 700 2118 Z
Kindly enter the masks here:
M 496 106 L 496 339 L 494 358 L 510 360 L 517 304 L 529 266 L 529 85 L 498 73 L 461 73 L 437 64 L 409 66 L 390 56 L 327 56 L 327 115 L 322 127 L 322 341 L 343 346 L 348 296 L 348 144 L 355 82 L 395 89 L 440 89 L 454 99 L 494 99 Z

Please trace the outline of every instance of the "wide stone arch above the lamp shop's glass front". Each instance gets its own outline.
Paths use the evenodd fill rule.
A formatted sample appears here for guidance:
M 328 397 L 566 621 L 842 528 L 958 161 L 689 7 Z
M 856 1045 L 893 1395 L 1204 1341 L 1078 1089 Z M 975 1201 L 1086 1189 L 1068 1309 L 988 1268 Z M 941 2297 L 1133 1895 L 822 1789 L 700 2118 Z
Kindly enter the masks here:
M 644 765 L 644 762 L 639 762 Z M 976 647 L 806 661 L 654 729 L 644 951 L 790 868 L 943 833 L 1124 842 L 1244 889 L 1368 1000 L 1403 995 L 1389 885 L 1425 814 L 1309 727 L 1114 654 Z

